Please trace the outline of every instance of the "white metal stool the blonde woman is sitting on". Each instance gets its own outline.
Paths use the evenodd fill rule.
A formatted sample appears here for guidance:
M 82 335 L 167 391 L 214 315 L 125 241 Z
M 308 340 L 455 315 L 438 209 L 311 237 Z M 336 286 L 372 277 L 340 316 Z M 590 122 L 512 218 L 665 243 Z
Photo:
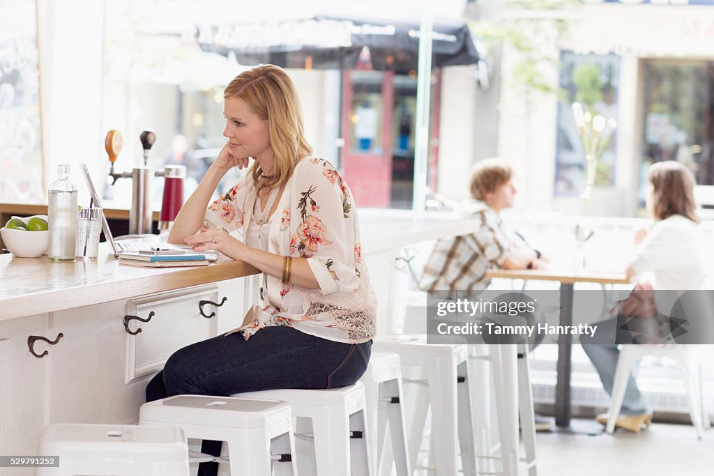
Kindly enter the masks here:
M 370 450 L 366 442 L 368 423 L 364 415 L 364 385 L 360 382 L 327 390 L 279 389 L 238 393 L 241 398 L 271 398 L 290 404 L 293 417 L 312 422 L 315 465 L 302 457 L 298 448 L 298 467 L 303 474 L 318 476 L 371 475 Z M 296 432 L 296 437 L 310 439 Z M 305 468 L 309 467 L 308 470 Z

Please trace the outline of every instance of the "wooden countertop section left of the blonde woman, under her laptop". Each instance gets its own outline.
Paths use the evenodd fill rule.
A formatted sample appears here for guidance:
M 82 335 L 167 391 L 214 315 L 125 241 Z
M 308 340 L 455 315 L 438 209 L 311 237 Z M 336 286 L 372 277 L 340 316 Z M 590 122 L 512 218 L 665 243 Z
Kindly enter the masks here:
M 257 273 L 253 266 L 232 260 L 195 268 L 120 266 L 108 243 L 100 243 L 99 258 L 91 261 L 62 263 L 46 256 L 4 254 L 0 255 L 0 321 Z

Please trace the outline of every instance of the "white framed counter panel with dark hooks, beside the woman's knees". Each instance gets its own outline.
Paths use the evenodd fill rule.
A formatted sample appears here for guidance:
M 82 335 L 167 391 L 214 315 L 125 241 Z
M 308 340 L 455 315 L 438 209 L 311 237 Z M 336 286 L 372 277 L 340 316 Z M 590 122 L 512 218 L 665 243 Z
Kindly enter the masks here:
M 149 318 L 149 322 L 131 320 L 129 330 L 141 332 L 136 335 L 126 334 L 126 383 L 131 383 L 164 368 L 169 356 L 179 348 L 206 340 L 216 335 L 216 315 L 205 318 L 201 315 L 198 303 L 201 300 L 219 302 L 218 286 L 206 285 L 200 288 L 161 293 L 129 300 L 127 315 Z M 208 315 L 217 312 L 216 308 L 206 305 Z

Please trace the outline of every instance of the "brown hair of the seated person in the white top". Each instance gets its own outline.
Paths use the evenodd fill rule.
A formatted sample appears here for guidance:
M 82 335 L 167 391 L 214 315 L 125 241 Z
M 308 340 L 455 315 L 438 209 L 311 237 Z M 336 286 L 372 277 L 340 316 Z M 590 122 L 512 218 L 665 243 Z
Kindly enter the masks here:
M 647 175 L 652 184 L 652 212 L 655 220 L 665 220 L 673 215 L 689 218 L 699 223 L 694 201 L 694 174 L 676 161 L 653 163 Z

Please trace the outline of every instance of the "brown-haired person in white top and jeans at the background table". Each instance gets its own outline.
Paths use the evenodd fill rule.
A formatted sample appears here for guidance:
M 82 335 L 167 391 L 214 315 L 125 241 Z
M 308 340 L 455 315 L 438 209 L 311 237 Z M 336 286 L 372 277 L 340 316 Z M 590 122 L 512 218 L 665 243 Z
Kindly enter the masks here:
M 694 174 L 675 161 L 654 163 L 648 181 L 645 205 L 655 221 L 650 228 L 635 233 L 637 250 L 625 272 L 636 282 L 633 295 L 640 293 L 640 298 L 653 295 L 651 304 L 641 301 L 646 310 L 640 315 L 654 316 L 655 312 L 670 315 L 673 302 L 671 298 L 667 302 L 666 298 L 676 299 L 687 290 L 700 289 L 707 278 L 703 235 L 695 213 L 696 183 Z M 603 387 L 611 394 L 620 352 L 615 340 L 618 318 L 600 321 L 595 326 L 594 335 L 581 335 L 580 343 L 598 370 Z M 608 415 L 595 419 L 605 425 Z M 652 412 L 630 375 L 616 426 L 639 432 L 651 419 Z

